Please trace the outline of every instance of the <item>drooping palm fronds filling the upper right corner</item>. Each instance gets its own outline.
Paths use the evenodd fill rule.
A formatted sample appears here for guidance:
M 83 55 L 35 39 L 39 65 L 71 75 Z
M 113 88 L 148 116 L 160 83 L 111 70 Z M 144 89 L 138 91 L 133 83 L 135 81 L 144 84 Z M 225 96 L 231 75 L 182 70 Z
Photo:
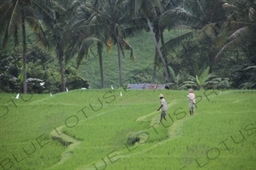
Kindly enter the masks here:
M 225 3 L 223 8 L 227 17 L 220 33 L 227 39 L 220 39 L 213 45 L 222 47 L 216 58 L 232 48 L 242 48 L 245 53 L 251 51 L 245 44 L 253 45 L 256 42 L 256 2 L 242 0 L 235 2 L 234 5 Z M 255 56 L 254 53 L 251 54 Z

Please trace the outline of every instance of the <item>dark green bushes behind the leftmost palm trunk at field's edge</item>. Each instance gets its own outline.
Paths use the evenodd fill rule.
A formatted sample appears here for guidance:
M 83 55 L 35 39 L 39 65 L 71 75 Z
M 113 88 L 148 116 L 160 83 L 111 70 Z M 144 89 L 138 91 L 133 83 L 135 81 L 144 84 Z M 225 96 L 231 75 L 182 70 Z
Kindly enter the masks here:
M 19 84 L 19 75 L 22 73 L 21 48 L 15 48 L 11 54 L 2 53 L 0 55 L 2 65 L 0 69 L 0 91 L 19 92 L 23 87 Z M 55 66 L 54 59 L 44 49 L 37 45 L 28 45 L 27 47 L 27 76 L 28 92 L 30 93 L 58 93 L 61 91 L 61 78 L 59 69 Z M 87 80 L 74 68 L 72 63 L 65 66 L 65 81 L 70 89 L 88 88 Z M 22 82 L 22 81 L 21 81 Z M 40 85 L 43 83 L 43 85 Z

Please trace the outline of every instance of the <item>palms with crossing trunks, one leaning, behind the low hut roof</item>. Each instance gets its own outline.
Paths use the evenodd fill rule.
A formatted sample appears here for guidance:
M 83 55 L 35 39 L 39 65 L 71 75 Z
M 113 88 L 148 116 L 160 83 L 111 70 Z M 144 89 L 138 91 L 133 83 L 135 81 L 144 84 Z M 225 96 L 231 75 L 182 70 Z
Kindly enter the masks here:
M 156 5 L 153 5 L 155 3 Z M 159 5 L 160 6 L 157 6 Z M 134 5 L 135 6 L 135 5 Z M 158 60 L 160 59 L 160 62 L 163 63 L 160 53 L 163 56 L 163 66 L 166 67 L 167 70 L 167 76 L 166 79 L 170 79 L 170 70 L 169 70 L 169 62 L 168 60 L 172 60 L 172 56 L 169 55 L 169 51 L 174 51 L 174 48 L 179 47 L 179 45 L 182 43 L 182 40 L 189 38 L 193 35 L 193 32 L 186 32 L 183 33 L 181 36 L 176 37 L 175 39 L 170 39 L 168 42 L 164 42 L 163 39 L 163 31 L 165 29 L 175 29 L 175 30 L 181 30 L 181 29 L 188 29 L 188 26 L 184 26 L 182 24 L 185 23 L 185 21 L 188 21 L 189 17 L 191 17 L 191 14 L 189 14 L 187 11 L 183 10 L 182 8 L 176 7 L 178 5 L 175 5 L 173 2 L 170 1 L 153 1 L 152 4 L 147 1 L 141 1 L 141 17 L 146 17 L 150 20 L 150 23 L 152 23 L 152 29 L 154 34 L 154 39 L 156 40 L 156 50 L 155 50 L 155 57 L 154 57 L 154 65 L 153 65 L 153 74 L 152 74 L 152 81 L 155 81 L 155 73 L 156 73 L 156 66 L 158 64 Z M 144 10 L 143 10 L 144 9 Z M 147 14 L 145 14 L 145 11 L 147 11 Z M 139 17 L 140 18 L 140 17 Z M 146 19 L 145 19 L 146 20 Z M 148 24 L 147 24 L 148 25 Z M 191 29 L 191 28 L 190 28 Z M 147 26 L 147 30 L 151 30 L 150 26 Z M 161 42 L 162 47 L 160 48 L 160 53 L 158 51 L 158 43 Z

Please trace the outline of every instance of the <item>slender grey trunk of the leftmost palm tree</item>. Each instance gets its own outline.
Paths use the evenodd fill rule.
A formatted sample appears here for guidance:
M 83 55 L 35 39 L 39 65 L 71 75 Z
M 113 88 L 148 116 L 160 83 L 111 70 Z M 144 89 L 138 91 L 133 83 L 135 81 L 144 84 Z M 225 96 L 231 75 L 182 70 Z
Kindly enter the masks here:
M 24 11 L 21 14 L 21 29 L 22 29 L 22 44 L 23 44 L 23 92 L 27 94 L 27 43 L 26 43 L 26 29 L 25 29 L 25 15 Z

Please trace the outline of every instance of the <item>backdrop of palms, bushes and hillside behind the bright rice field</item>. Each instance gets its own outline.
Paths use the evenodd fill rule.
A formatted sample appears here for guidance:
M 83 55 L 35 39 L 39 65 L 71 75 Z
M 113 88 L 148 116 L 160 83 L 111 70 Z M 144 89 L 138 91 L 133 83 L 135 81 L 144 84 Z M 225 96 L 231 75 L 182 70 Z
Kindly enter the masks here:
M 168 83 L 173 89 L 254 89 L 255 1 L 227 2 L 2 1 L 1 58 L 6 59 L 1 65 L 1 70 L 5 71 L 0 78 L 5 86 L 2 91 L 11 91 L 10 86 L 14 91 L 22 92 L 21 82 L 27 82 L 27 78 L 49 81 L 45 92 L 65 91 L 66 86 L 69 89 L 87 88 L 88 84 L 82 83 L 85 79 L 91 88 L 109 88 L 111 85 L 119 88 L 128 83 L 151 82 Z M 23 17 L 17 16 L 20 13 Z M 21 19 L 26 21 L 25 24 L 21 24 Z M 18 32 L 20 26 L 22 34 Z M 10 31 L 14 32 L 14 37 L 8 41 L 12 37 Z M 23 39 L 23 42 L 17 42 L 17 39 Z M 56 80 L 53 84 L 42 75 L 45 70 L 51 70 L 51 66 L 45 69 L 35 66 L 42 64 L 41 61 L 27 61 L 26 55 L 30 55 L 27 48 L 37 43 L 40 50 L 36 55 L 44 57 L 41 52 L 46 51 L 45 48 L 53 51 L 50 57 L 55 58 L 55 62 L 49 64 L 58 65 L 60 75 L 56 80 L 56 74 L 50 71 Z M 5 55 L 5 50 L 12 51 L 21 46 L 19 54 L 11 59 Z M 6 63 L 7 58 L 12 65 Z M 199 69 L 204 68 L 204 64 L 209 69 L 200 77 L 194 72 L 195 63 Z M 12 73 L 6 72 L 5 64 Z M 67 65 L 71 66 L 68 70 Z M 74 70 L 77 66 L 79 70 Z M 27 70 L 42 73 L 27 73 Z M 49 72 L 45 73 L 49 77 Z M 181 75 L 186 79 L 177 82 L 177 76 Z M 18 86 L 14 85 L 14 79 L 19 82 Z M 61 83 L 57 85 L 59 81 Z M 23 91 L 27 91 L 25 89 L 24 86 Z M 40 93 L 42 90 L 33 91 Z

